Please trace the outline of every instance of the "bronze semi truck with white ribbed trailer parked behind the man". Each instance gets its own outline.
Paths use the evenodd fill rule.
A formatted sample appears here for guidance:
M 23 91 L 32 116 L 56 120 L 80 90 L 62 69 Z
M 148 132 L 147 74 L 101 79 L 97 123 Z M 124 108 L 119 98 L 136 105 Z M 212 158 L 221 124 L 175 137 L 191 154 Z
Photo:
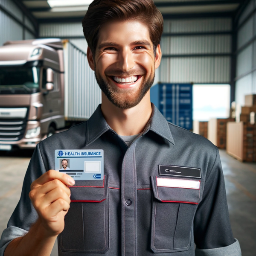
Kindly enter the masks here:
M 35 148 L 87 120 L 100 103 L 86 54 L 68 40 L 8 41 L 0 47 L 0 150 Z

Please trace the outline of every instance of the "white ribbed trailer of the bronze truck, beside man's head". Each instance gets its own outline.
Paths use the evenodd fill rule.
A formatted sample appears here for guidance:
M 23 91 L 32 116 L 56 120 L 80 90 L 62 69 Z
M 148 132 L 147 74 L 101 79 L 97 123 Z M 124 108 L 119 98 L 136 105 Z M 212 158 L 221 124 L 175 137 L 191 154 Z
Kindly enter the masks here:
M 102 101 L 101 89 L 86 54 L 73 44 L 65 44 L 64 49 L 65 118 L 88 119 Z

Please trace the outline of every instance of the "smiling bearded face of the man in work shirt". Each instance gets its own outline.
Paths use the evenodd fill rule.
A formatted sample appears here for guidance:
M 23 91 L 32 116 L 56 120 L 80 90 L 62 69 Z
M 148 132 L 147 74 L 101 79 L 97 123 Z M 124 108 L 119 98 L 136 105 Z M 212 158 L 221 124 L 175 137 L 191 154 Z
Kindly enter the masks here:
M 157 58 L 159 51 L 160 47 Z M 113 105 L 128 109 L 139 104 L 154 82 L 155 56 L 148 27 L 132 20 L 102 26 L 93 65 L 99 87 Z

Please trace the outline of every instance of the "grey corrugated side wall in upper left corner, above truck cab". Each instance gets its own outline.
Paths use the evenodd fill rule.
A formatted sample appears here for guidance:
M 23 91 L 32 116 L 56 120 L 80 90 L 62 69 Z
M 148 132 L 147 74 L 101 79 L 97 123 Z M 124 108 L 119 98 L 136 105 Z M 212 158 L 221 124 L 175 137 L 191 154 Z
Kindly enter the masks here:
M 3 10 L 11 13 L 11 15 L 8 15 Z M 12 16 L 20 22 L 17 22 Z M 27 29 L 24 31 L 25 38 L 23 38 L 23 26 L 21 23 L 23 23 L 23 13 L 15 3 L 12 0 L 0 0 L 0 46 L 6 41 L 35 38 Z M 27 17 L 25 17 L 25 25 L 35 32 L 34 26 Z

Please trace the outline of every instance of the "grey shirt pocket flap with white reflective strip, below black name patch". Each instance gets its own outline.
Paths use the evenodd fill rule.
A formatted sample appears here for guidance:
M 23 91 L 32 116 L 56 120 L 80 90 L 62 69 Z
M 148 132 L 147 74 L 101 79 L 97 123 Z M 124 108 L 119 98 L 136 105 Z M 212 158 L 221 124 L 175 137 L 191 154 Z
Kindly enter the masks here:
M 154 197 L 161 202 L 198 204 L 200 180 L 151 176 Z

